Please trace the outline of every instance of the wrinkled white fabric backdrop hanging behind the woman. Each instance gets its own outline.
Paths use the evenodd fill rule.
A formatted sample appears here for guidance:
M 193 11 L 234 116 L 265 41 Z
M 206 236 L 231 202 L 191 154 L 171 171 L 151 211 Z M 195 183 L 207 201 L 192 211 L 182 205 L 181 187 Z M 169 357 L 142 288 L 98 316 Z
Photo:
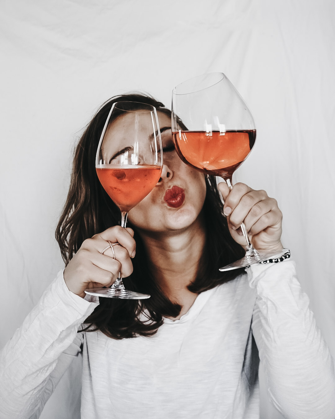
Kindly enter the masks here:
M 109 97 L 222 71 L 258 129 L 236 174 L 276 197 L 283 244 L 335 355 L 335 2 L 1 0 L 2 347 L 63 266 L 54 229 L 75 141 Z M 77 418 L 75 362 L 41 418 Z M 262 377 L 261 417 L 269 405 Z

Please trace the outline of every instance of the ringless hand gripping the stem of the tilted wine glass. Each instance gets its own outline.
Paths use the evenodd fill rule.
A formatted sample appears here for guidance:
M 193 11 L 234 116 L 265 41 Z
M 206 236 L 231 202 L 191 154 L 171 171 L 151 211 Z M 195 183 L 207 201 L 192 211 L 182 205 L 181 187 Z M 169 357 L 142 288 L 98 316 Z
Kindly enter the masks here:
M 250 241 L 257 250 L 280 251 L 281 221 L 283 215 L 276 199 L 269 198 L 265 191 L 254 191 L 249 186 L 237 183 L 232 190 L 225 182 L 219 183 L 224 199 L 224 214 L 232 238 L 245 247 L 240 225 L 245 223 Z

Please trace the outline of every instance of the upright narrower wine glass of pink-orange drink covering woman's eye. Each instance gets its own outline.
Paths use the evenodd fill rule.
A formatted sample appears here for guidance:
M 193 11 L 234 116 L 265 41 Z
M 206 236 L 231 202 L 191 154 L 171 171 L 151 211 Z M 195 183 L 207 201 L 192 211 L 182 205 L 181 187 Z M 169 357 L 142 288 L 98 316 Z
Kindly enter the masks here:
M 126 228 L 131 208 L 157 184 L 163 166 L 161 150 L 162 140 L 154 106 L 126 101 L 113 103 L 101 134 L 95 168 L 103 189 L 121 210 L 121 227 Z M 121 272 L 111 287 L 85 292 L 99 297 L 133 300 L 150 297 L 126 290 Z

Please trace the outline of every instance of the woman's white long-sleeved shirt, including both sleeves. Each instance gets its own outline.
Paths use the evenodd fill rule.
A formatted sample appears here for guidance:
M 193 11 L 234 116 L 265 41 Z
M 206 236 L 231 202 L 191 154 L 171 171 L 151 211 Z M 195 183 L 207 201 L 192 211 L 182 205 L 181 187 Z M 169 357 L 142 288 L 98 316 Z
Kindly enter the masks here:
M 259 357 L 284 416 L 335 418 L 334 365 L 292 261 L 202 292 L 152 337 L 77 333 L 97 304 L 59 273 L 2 351 L 1 419 L 38 418 L 79 352 L 82 419 L 257 419 Z

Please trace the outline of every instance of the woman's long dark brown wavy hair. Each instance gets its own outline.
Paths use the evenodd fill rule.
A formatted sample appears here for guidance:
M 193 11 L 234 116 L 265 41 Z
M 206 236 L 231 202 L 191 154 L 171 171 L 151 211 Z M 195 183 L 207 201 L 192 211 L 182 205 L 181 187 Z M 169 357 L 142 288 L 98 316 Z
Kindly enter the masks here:
M 69 193 L 56 229 L 56 239 L 67 265 L 82 242 L 97 233 L 120 223 L 120 210 L 108 197 L 95 172 L 95 153 L 113 103 L 117 101 L 142 102 L 155 106 L 157 111 L 170 116 L 163 103 L 150 96 L 126 94 L 114 96 L 105 102 L 82 134 L 75 149 Z M 214 176 L 205 176 L 206 198 L 203 207 L 206 244 L 203 264 L 188 289 L 200 293 L 234 279 L 242 269 L 221 273 L 219 267 L 239 259 L 245 253 L 242 246 L 231 237 L 223 204 Z M 100 330 L 114 339 L 139 335 L 151 336 L 163 323 L 163 317 L 176 317 L 181 307 L 164 295 L 149 269 L 148 256 L 136 228 L 136 256 L 132 259 L 134 270 L 124 278 L 128 290 L 150 294 L 147 300 L 118 300 L 100 298 L 100 304 L 86 319 L 83 330 Z

